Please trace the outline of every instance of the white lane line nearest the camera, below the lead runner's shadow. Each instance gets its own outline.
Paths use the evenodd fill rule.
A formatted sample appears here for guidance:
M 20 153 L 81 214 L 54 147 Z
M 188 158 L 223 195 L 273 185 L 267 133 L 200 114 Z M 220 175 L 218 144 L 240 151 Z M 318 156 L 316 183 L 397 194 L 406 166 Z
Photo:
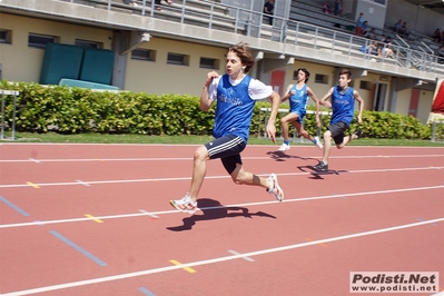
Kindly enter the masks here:
M 235 260 L 235 259 L 245 258 L 245 257 L 254 257 L 254 256 L 259 256 L 259 255 L 265 255 L 265 254 L 272 254 L 272 253 L 277 253 L 277 251 L 284 251 L 284 250 L 290 250 L 290 249 L 296 249 L 296 248 L 302 248 L 302 247 L 314 246 L 314 245 L 318 245 L 318 244 L 327 244 L 327 243 L 332 243 L 332 241 L 339 241 L 339 240 L 345 240 L 345 239 L 351 239 L 351 238 L 356 238 L 356 237 L 377 235 L 377 234 L 383 234 L 383 233 L 388 233 L 388 231 L 396 231 L 396 230 L 402 230 L 402 229 L 406 229 L 406 228 L 423 226 L 423 225 L 431 224 L 431 223 L 442 223 L 442 221 L 444 221 L 444 217 L 425 220 L 425 221 L 420 221 L 420 223 L 404 224 L 404 225 L 398 225 L 398 226 L 394 226 L 394 227 L 379 228 L 379 229 L 369 230 L 369 231 L 363 231 L 363 233 L 336 236 L 336 237 L 330 237 L 330 238 L 325 238 L 325 239 L 312 240 L 312 241 L 306 241 L 306 243 L 299 243 L 299 244 L 294 244 L 294 245 L 287 245 L 287 246 L 276 247 L 276 248 L 260 249 L 260 250 L 249 251 L 249 253 L 244 253 L 244 254 L 238 254 L 238 255 L 216 257 L 216 258 L 207 259 L 207 260 L 184 263 L 180 265 L 158 267 L 158 268 L 146 269 L 146 270 L 136 272 L 136 273 L 127 273 L 127 274 L 120 274 L 120 275 L 115 275 L 115 276 L 98 277 L 98 278 L 92 278 L 92 279 L 66 283 L 66 284 L 53 285 L 53 286 L 46 286 L 46 287 L 33 288 L 33 289 L 11 292 L 11 293 L 2 294 L 2 296 L 31 295 L 31 294 L 36 294 L 36 293 L 67 289 L 67 288 L 72 288 L 72 287 L 79 287 L 79 286 L 86 286 L 86 285 L 92 285 L 92 284 L 99 284 L 99 283 L 106 283 L 106 282 L 112 282 L 112 280 L 120 280 L 120 279 L 126 279 L 126 278 L 134 278 L 134 277 L 139 277 L 139 276 L 146 276 L 146 275 L 152 275 L 152 274 L 159 274 L 159 273 L 166 273 L 166 272 L 170 272 L 170 270 L 181 269 L 185 267 L 203 266 L 203 265 L 216 264 L 216 263 L 221 263 L 221 262 Z

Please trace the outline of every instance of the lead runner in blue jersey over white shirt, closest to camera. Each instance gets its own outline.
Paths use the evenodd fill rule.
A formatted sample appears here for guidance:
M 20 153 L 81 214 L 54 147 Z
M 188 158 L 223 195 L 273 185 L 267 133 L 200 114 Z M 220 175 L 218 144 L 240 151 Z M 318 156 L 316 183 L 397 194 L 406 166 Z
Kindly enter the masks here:
M 197 209 L 197 196 L 204 182 L 207 160 L 220 158 L 225 169 L 238 185 L 254 185 L 267 189 L 277 200 L 284 199 L 277 177 L 270 174 L 263 178 L 245 171 L 240 152 L 245 149 L 249 136 L 255 102 L 259 99 L 272 101 L 272 114 L 267 124 L 268 137 L 276 142 L 276 115 L 280 97 L 270 86 L 253 79 L 247 72 L 255 65 L 255 58 L 246 43 L 231 46 L 226 55 L 226 73 L 207 73 L 200 95 L 200 109 L 207 111 L 217 101 L 213 128 L 215 140 L 197 148 L 194 155 L 193 180 L 189 193 L 170 204 L 178 210 L 194 214 Z

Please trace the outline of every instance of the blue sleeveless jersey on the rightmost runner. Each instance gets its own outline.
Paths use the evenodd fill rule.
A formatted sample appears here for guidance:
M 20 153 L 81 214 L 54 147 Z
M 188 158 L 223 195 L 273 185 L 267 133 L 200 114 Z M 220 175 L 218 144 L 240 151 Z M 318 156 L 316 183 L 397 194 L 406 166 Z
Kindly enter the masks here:
M 355 114 L 355 98 L 353 96 L 354 89 L 348 87 L 343 90 L 338 86 L 334 87 L 332 95 L 333 115 L 330 125 L 343 121 L 349 126 Z

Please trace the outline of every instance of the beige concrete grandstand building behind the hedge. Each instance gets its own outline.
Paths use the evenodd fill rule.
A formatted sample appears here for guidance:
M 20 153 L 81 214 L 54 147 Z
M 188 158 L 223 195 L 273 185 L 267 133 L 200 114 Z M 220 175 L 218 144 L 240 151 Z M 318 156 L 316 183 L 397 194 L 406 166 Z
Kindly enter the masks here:
M 366 109 L 426 122 L 444 77 L 426 30 L 444 29 L 442 14 L 403 0 L 354 0 L 344 1 L 347 16 L 339 18 L 322 13 L 318 1 L 282 0 L 269 26 L 263 2 L 176 0 L 158 10 L 147 0 L 1 0 L 0 78 L 39 82 L 46 43 L 56 42 L 111 50 L 110 85 L 120 89 L 199 96 L 208 71 L 225 71 L 227 47 L 244 41 L 257 60 L 250 75 L 280 95 L 304 67 L 320 98 L 346 67 Z M 351 30 L 361 11 L 373 17 L 379 34 L 392 36 L 394 59 L 361 51 L 369 40 Z M 389 29 L 399 18 L 412 24 L 408 38 Z

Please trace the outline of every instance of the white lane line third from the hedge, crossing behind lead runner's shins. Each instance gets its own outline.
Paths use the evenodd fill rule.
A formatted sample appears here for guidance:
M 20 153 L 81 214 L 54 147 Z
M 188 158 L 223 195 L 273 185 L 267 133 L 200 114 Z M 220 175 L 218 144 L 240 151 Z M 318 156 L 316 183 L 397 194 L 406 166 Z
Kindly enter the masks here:
M 389 168 L 389 169 L 358 169 L 358 170 L 338 170 L 337 174 L 362 174 L 362 172 L 392 172 L 392 171 L 414 171 L 414 170 L 433 170 L 433 169 L 444 169 L 444 167 L 417 167 L 417 168 Z M 309 171 L 299 171 L 299 172 L 283 172 L 277 174 L 277 176 L 304 176 L 304 175 L 334 175 L 335 170 L 330 170 L 330 172 L 316 172 L 313 170 Z M 257 174 L 258 176 L 267 176 L 267 174 Z M 230 176 L 206 176 L 206 179 L 227 179 L 231 178 Z M 149 181 L 182 181 L 190 180 L 191 177 L 177 177 L 177 178 L 154 178 L 154 179 L 129 179 L 129 180 L 96 180 L 88 181 L 83 180 L 82 182 L 77 181 L 66 181 L 66 182 L 33 182 L 34 186 L 43 187 L 43 186 L 68 186 L 68 185 L 99 185 L 99 184 L 126 184 L 126 182 L 149 182 Z M 4 184 L 0 185 L 0 188 L 20 188 L 20 187 L 29 187 L 29 184 Z

